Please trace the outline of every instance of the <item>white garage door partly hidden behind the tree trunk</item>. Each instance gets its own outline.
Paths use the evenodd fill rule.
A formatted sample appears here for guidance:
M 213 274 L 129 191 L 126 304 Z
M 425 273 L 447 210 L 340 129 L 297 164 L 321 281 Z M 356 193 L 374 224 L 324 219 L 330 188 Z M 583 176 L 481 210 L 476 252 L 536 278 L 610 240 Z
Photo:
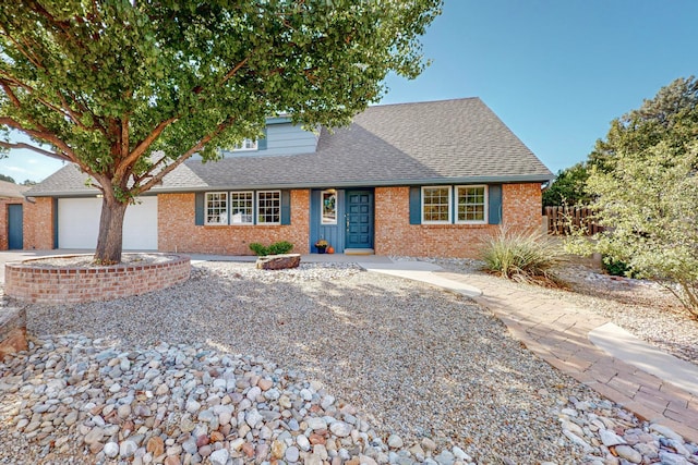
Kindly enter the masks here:
M 157 197 L 141 197 L 123 219 L 124 250 L 157 250 Z M 95 248 L 101 198 L 58 199 L 58 247 Z

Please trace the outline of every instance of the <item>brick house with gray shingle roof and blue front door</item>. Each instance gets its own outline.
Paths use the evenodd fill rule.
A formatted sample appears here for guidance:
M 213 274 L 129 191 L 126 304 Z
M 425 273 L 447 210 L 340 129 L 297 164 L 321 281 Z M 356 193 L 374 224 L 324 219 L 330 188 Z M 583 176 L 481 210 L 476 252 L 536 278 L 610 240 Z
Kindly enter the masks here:
M 338 253 L 470 257 L 498 224 L 540 228 L 553 178 L 478 98 L 370 107 L 334 133 L 272 118 L 263 139 L 224 154 L 129 207 L 124 249 L 312 253 L 325 238 Z M 95 247 L 101 200 L 86 179 L 67 166 L 26 193 L 26 248 Z

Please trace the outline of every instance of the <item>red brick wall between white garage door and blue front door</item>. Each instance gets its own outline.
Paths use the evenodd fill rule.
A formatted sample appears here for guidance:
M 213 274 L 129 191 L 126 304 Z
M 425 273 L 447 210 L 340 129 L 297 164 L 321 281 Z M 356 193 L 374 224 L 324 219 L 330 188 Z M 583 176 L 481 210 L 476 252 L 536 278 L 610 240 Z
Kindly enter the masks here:
M 194 194 L 159 194 L 158 248 L 219 255 L 253 255 L 250 244 L 293 244 L 293 253 L 308 254 L 310 236 L 310 191 L 291 191 L 291 224 L 222 225 L 194 224 Z

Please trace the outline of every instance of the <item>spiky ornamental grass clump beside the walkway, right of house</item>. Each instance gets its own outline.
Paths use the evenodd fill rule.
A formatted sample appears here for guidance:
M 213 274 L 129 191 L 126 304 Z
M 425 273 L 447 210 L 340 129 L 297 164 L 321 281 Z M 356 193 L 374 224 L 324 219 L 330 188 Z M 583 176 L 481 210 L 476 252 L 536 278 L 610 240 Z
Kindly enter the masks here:
M 562 248 L 538 231 L 500 229 L 483 241 L 484 269 L 503 278 L 524 282 L 557 284 L 552 268 L 563 260 Z

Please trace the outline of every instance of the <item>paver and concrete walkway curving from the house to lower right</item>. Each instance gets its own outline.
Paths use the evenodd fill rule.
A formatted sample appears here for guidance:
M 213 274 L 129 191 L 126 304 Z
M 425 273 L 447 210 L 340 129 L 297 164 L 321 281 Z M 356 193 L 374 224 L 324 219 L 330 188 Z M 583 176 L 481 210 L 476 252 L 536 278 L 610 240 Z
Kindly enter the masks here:
M 675 384 L 614 357 L 589 340 L 589 333 L 609 323 L 607 319 L 534 291 L 498 285 L 490 277 L 444 272 L 431 264 L 423 264 L 421 267 L 407 262 L 394 266 L 361 265 L 370 271 L 410 278 L 462 292 L 494 313 L 516 339 L 543 360 L 623 405 L 638 417 L 665 425 L 684 438 L 698 442 L 698 392 L 694 389 L 698 386 L 698 369 L 691 364 L 682 365 L 682 360 L 662 354 L 665 358 L 674 358 L 674 362 L 662 362 L 663 364 L 675 364 L 676 369 L 683 369 L 677 372 L 685 382 L 676 381 Z M 478 293 L 477 290 L 481 292 Z M 617 343 L 622 345 L 624 341 L 619 339 Z M 650 352 L 658 352 L 649 344 L 640 342 L 639 345 L 646 346 Z M 659 360 L 663 358 L 660 357 Z M 690 368 L 688 372 L 684 372 L 687 366 Z M 664 369 L 669 367 L 662 368 L 658 372 L 671 374 L 671 369 Z

